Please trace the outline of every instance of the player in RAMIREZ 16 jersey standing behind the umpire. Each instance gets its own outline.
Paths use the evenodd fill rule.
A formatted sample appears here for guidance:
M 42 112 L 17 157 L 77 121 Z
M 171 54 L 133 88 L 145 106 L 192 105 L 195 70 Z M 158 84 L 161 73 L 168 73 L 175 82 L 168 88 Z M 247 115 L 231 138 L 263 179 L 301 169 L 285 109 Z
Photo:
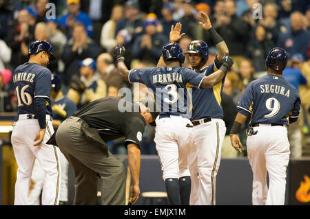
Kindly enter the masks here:
M 28 205 L 28 189 L 34 160 L 45 172 L 42 205 L 59 204 L 61 167 L 59 148 L 46 144 L 54 129 L 50 106 L 51 73 L 47 68 L 52 46 L 45 41 L 34 41 L 29 46 L 29 60 L 19 65 L 13 74 L 17 92 L 18 121 L 12 130 L 12 146 L 17 161 L 14 205 Z

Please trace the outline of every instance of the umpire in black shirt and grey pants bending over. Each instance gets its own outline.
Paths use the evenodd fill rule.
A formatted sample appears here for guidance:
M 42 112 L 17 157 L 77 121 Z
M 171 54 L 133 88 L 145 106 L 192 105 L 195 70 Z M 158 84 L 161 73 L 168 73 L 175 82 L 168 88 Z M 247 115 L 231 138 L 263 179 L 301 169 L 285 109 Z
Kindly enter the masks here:
M 121 113 L 118 110 L 120 100 L 105 97 L 86 104 L 65 119 L 49 140 L 59 146 L 74 169 L 74 205 L 96 203 L 98 174 L 102 184 L 101 204 L 125 205 L 125 170 L 105 143 L 124 136 L 132 175 L 130 202 L 134 203 L 140 194 L 139 145 L 145 126 L 154 122 L 155 114 L 149 113 L 149 108 L 141 103 L 129 102 L 127 104 L 138 112 Z

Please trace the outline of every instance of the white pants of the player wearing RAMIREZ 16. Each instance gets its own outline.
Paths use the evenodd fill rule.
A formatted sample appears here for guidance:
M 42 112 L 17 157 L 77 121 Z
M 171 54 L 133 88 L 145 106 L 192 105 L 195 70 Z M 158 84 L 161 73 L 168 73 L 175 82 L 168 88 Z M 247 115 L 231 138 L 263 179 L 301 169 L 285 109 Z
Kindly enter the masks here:
M 40 146 L 33 146 L 34 137 L 40 130 L 37 119 L 27 119 L 27 115 L 19 115 L 19 120 L 13 127 L 11 142 L 18 165 L 14 205 L 28 205 L 30 178 L 36 158 L 45 172 L 42 205 L 59 205 L 60 150 L 56 146 L 45 144 L 54 132 L 49 115 L 47 115 L 47 119 L 45 137 Z

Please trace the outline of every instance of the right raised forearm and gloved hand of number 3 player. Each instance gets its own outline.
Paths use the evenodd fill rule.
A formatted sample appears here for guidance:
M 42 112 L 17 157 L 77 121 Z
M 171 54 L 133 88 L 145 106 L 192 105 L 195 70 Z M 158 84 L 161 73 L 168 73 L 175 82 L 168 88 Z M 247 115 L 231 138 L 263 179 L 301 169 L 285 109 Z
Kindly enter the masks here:
M 211 75 L 203 79 L 203 82 L 200 84 L 201 88 L 214 87 L 214 85 L 218 84 L 218 82 L 223 79 L 225 73 L 227 73 L 229 68 L 234 64 L 234 60 L 229 56 L 225 56 L 225 58 L 223 58 L 221 62 L 223 62 L 223 64 L 220 69 L 218 69 L 218 71 L 211 73 Z

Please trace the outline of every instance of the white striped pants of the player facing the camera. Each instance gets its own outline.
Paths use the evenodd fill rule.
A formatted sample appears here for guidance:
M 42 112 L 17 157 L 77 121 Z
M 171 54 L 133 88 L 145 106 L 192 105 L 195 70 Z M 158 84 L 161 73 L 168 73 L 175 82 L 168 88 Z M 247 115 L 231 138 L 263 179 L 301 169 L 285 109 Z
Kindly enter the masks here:
M 215 205 L 216 175 L 226 126 L 223 119 L 194 126 L 193 143 L 189 154 L 192 189 L 189 205 Z

